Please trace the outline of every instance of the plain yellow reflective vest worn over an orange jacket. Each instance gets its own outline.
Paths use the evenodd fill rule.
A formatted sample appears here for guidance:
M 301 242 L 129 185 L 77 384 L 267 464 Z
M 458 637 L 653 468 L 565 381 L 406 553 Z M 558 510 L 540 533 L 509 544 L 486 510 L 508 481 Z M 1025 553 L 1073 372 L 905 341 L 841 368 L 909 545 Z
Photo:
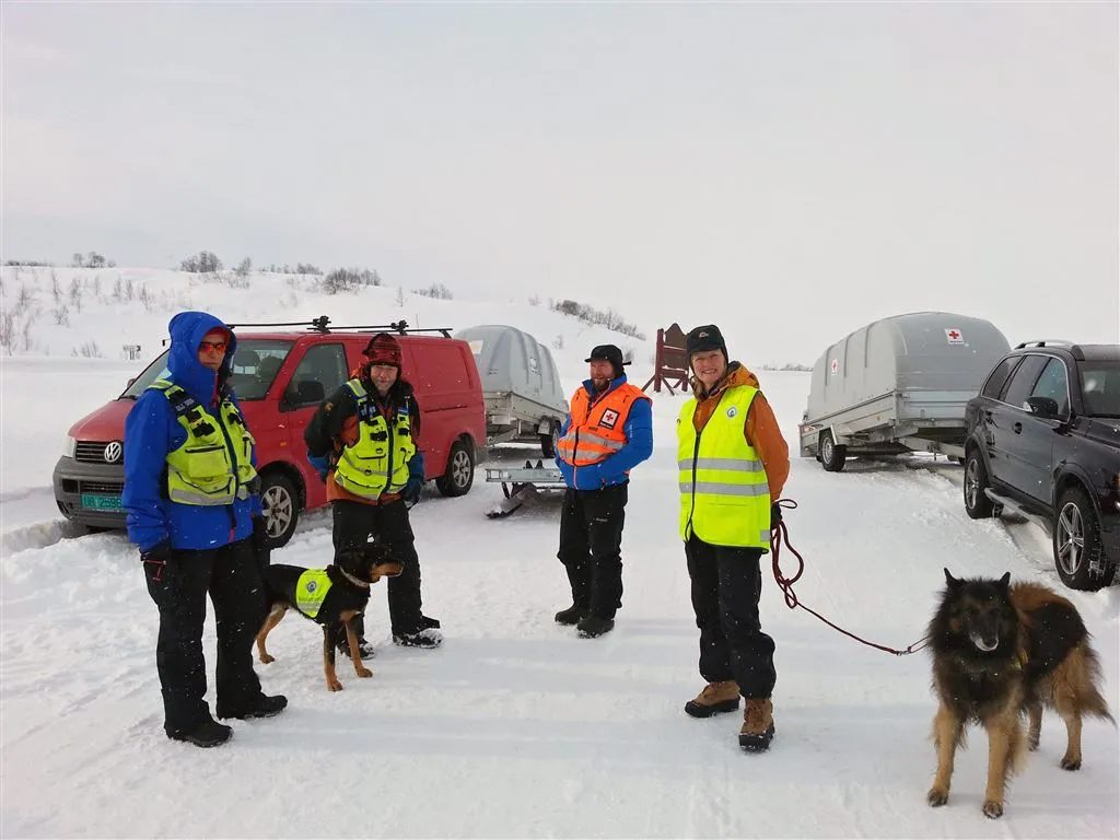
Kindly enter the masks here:
M 698 436 L 689 400 L 676 419 L 680 470 L 680 534 L 712 545 L 769 548 L 769 485 L 758 452 L 744 436 L 747 412 L 758 389 L 738 385 L 719 404 Z

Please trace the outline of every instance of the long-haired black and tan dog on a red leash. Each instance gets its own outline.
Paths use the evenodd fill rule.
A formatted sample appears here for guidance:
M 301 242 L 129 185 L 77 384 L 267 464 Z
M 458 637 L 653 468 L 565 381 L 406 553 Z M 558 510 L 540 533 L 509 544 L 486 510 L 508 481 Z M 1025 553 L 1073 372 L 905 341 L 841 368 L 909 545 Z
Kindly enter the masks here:
M 933 688 L 941 701 L 933 719 L 937 775 L 928 802 L 949 801 L 956 747 L 964 745 L 965 725 L 976 721 L 988 732 L 983 812 L 992 819 L 1004 813 L 1004 791 L 1024 746 L 1038 747 L 1043 706 L 1065 720 L 1068 740 L 1061 766 L 1070 771 L 1081 767 L 1082 717 L 1112 720 L 1098 689 L 1096 654 L 1076 608 L 1046 587 L 1010 586 L 1010 579 L 1008 572 L 998 580 L 959 580 L 945 569 L 948 586 L 928 635 Z

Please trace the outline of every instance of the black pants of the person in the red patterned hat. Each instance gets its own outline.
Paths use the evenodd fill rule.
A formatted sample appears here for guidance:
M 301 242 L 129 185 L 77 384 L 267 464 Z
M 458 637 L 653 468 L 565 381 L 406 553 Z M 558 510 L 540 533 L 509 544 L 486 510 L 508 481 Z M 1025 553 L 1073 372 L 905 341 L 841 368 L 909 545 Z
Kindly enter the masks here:
M 335 551 L 362 545 L 376 536 L 389 547 L 393 559 L 403 566 L 395 578 L 389 578 L 389 622 L 394 636 L 418 633 L 420 620 L 420 558 L 417 557 L 416 538 L 409 523 L 409 508 L 403 500 L 383 505 L 367 505 L 339 498 L 332 502 L 334 516 Z M 358 638 L 365 638 L 363 616 L 354 619 Z M 346 638 L 343 628 L 336 644 Z

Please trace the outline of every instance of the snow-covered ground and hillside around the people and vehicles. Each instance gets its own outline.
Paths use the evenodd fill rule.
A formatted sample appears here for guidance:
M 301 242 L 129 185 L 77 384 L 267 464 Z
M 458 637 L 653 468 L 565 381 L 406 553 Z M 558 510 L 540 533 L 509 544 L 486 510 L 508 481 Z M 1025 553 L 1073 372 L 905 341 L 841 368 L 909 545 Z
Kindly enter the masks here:
M 4 272 L 10 306 L 27 274 L 13 287 Z M 479 469 L 468 495 L 447 500 L 432 491 L 413 511 L 424 612 L 442 622 L 441 648 L 394 647 L 376 591 L 367 619 L 379 647 L 374 678 L 357 680 L 343 666 L 346 690 L 333 694 L 323 684 L 317 628 L 290 617 L 270 636 L 277 661 L 258 665 L 265 691 L 288 696 L 288 710 L 237 722 L 233 741 L 216 750 L 168 741 L 156 609 L 136 552 L 121 534 L 77 536 L 59 524 L 49 489 L 69 423 L 115 395 L 140 363 L 108 352 L 112 358 L 75 358 L 72 348 L 140 343 L 147 361 L 176 305 L 231 320 L 277 319 L 278 310 L 261 302 L 273 299 L 263 283 L 295 298 L 284 320 L 345 306 L 347 317 L 382 323 L 400 310 L 392 289 L 327 298 L 277 278 L 230 289 L 192 286 L 176 272 L 133 273 L 165 302 L 149 310 L 87 299 L 81 317 L 71 311 L 73 326 L 44 316 L 31 353 L 0 360 L 3 837 L 1120 833 L 1116 729 L 1088 721 L 1084 767 L 1067 773 L 1057 767 L 1064 727 L 1052 713 L 1001 821 L 980 812 L 987 744 L 979 731 L 958 757 L 949 805 L 930 809 L 935 703 L 927 656 L 896 657 L 841 636 L 790 610 L 773 582 L 762 607 L 777 643 L 772 750 L 744 754 L 737 716 L 687 717 L 681 707 L 702 681 L 675 532 L 673 424 L 682 399 L 668 394 L 654 400 L 653 458 L 633 476 L 624 606 L 613 633 L 581 640 L 553 623 L 569 600 L 556 559 L 556 502 L 487 520 L 502 491 Z M 49 307 L 50 280 L 35 288 Z M 405 310 L 421 326 L 507 323 L 548 344 L 562 336 L 554 353 L 569 390 L 585 375 L 587 351 L 613 337 L 526 302 L 412 298 Z M 831 338 L 821 336 L 821 345 Z M 631 377 L 643 384 L 652 343 L 614 339 L 634 348 Z M 795 451 L 808 374 L 759 376 Z M 536 455 L 511 447 L 495 457 Z M 943 567 L 970 576 L 1009 570 L 1060 587 L 1045 534 L 1030 524 L 970 521 L 960 477 L 959 467 L 927 458 L 853 461 L 841 474 L 795 458 L 785 495 L 801 505 L 786 516 L 808 563 L 799 597 L 853 633 L 904 647 L 924 633 Z M 320 513 L 273 558 L 321 567 L 329 554 Z M 791 561 L 783 556 L 786 573 Z M 1064 594 L 1095 637 L 1117 712 L 1118 590 Z M 213 668 L 212 625 L 205 644 Z

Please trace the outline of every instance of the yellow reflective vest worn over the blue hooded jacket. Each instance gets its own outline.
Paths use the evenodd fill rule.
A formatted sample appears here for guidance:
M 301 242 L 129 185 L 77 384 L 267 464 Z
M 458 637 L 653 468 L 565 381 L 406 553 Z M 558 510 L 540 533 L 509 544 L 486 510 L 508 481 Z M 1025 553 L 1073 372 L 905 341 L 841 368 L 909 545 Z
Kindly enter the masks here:
M 245 419 L 228 396 L 223 396 L 215 419 L 202 403 L 168 380 L 149 388 L 161 391 L 175 411 L 186 440 L 167 454 L 167 497 L 186 505 L 218 506 L 249 498 L 255 440 Z

